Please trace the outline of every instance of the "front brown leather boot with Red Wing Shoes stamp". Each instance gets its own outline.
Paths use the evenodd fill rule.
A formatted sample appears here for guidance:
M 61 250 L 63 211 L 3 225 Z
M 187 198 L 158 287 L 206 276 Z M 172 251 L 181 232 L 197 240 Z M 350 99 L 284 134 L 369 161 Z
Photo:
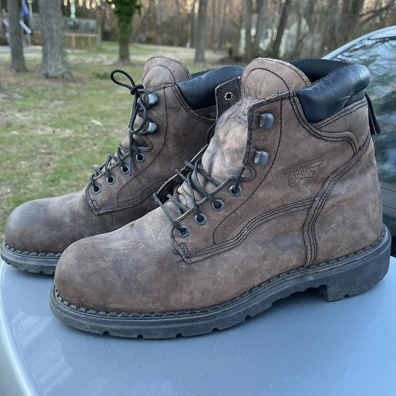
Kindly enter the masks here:
M 241 99 L 160 207 L 66 249 L 55 316 L 95 333 L 195 335 L 308 287 L 333 301 L 379 282 L 390 237 L 368 82 L 366 67 L 338 61 L 251 62 Z

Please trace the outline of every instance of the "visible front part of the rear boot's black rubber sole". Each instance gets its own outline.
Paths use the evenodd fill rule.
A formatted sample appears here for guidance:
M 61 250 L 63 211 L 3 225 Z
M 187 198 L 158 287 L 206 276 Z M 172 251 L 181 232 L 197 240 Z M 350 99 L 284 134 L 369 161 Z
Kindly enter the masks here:
M 48 275 L 55 273 L 61 257 L 61 253 L 36 253 L 13 249 L 6 241 L 2 243 L 0 255 L 5 263 L 14 268 Z

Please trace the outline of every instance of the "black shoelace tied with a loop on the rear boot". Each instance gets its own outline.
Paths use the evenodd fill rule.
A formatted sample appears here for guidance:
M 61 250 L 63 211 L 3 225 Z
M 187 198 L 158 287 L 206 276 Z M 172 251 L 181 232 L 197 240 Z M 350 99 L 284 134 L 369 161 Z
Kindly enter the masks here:
M 116 80 L 114 78 L 114 74 L 116 74 L 116 73 L 124 74 L 124 76 L 126 76 L 128 78 L 128 80 L 131 82 L 131 85 L 124 84 L 124 83 Z M 131 95 L 134 95 L 133 110 L 132 110 L 131 120 L 129 122 L 129 150 L 127 148 L 123 147 L 122 145 L 118 145 L 118 150 L 117 150 L 116 155 L 108 153 L 107 155 L 109 156 L 109 158 L 107 158 L 107 161 L 105 162 L 105 164 L 103 164 L 99 168 L 95 168 L 95 173 L 93 173 L 93 175 L 91 175 L 91 177 L 90 177 L 92 189 L 95 192 L 99 190 L 99 187 L 97 185 L 95 185 L 95 182 L 93 179 L 94 179 L 94 177 L 99 176 L 103 172 L 103 169 L 106 173 L 107 179 L 109 181 L 112 180 L 112 176 L 110 175 L 109 169 L 108 169 L 111 160 L 114 160 L 118 163 L 118 165 L 121 167 L 121 171 L 123 173 L 129 173 L 129 175 L 132 174 L 132 153 L 136 152 L 136 158 L 139 161 L 143 160 L 143 158 L 144 158 L 143 154 L 141 154 L 139 152 L 139 149 L 136 146 L 136 143 L 133 139 L 133 135 L 147 135 L 148 133 L 150 133 L 150 132 L 145 131 L 147 121 L 150 122 L 150 120 L 147 116 L 148 108 L 145 106 L 145 104 L 141 100 L 139 100 L 141 95 L 148 93 L 148 90 L 145 89 L 143 87 L 143 85 L 141 85 L 141 84 L 136 85 L 135 82 L 133 81 L 133 78 L 131 76 L 129 76 L 128 73 L 124 72 L 124 70 L 113 70 L 110 74 L 110 78 L 111 78 L 112 82 L 114 82 L 115 84 L 120 85 L 125 88 L 128 88 L 129 91 L 131 92 Z M 133 125 L 135 124 L 135 120 L 136 120 L 137 116 L 139 116 L 140 118 L 143 118 L 143 121 L 142 121 L 141 125 L 139 126 L 139 128 L 137 128 L 135 130 L 135 129 L 133 129 Z M 124 154 L 121 154 L 121 152 L 123 152 Z M 127 155 L 129 155 L 129 166 L 124 164 L 124 162 L 122 161 L 122 157 L 127 156 Z

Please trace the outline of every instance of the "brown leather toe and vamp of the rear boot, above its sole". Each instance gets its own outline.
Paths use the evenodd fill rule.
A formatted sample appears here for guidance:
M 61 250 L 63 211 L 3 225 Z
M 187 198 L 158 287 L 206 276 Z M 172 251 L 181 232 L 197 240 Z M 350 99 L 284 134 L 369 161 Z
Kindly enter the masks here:
M 34 200 L 11 213 L 5 229 L 6 241 L 14 249 L 61 253 L 76 240 L 116 230 L 155 206 L 150 199 L 139 207 L 97 216 L 84 191 Z

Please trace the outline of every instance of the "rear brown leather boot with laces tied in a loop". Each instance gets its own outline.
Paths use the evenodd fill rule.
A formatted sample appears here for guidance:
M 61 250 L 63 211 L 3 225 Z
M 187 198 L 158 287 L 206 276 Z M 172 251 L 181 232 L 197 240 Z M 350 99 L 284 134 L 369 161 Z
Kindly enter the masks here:
M 130 85 L 118 82 L 117 72 Z M 53 274 L 73 242 L 116 230 L 154 209 L 153 192 L 206 144 L 216 118 L 216 86 L 230 80 L 218 99 L 224 109 L 230 107 L 239 99 L 242 72 L 242 67 L 225 66 L 191 76 L 181 61 L 161 55 L 148 59 L 141 85 L 121 70 L 112 72 L 112 80 L 134 95 L 129 135 L 95 169 L 82 192 L 16 208 L 6 225 L 2 259 L 13 267 Z

